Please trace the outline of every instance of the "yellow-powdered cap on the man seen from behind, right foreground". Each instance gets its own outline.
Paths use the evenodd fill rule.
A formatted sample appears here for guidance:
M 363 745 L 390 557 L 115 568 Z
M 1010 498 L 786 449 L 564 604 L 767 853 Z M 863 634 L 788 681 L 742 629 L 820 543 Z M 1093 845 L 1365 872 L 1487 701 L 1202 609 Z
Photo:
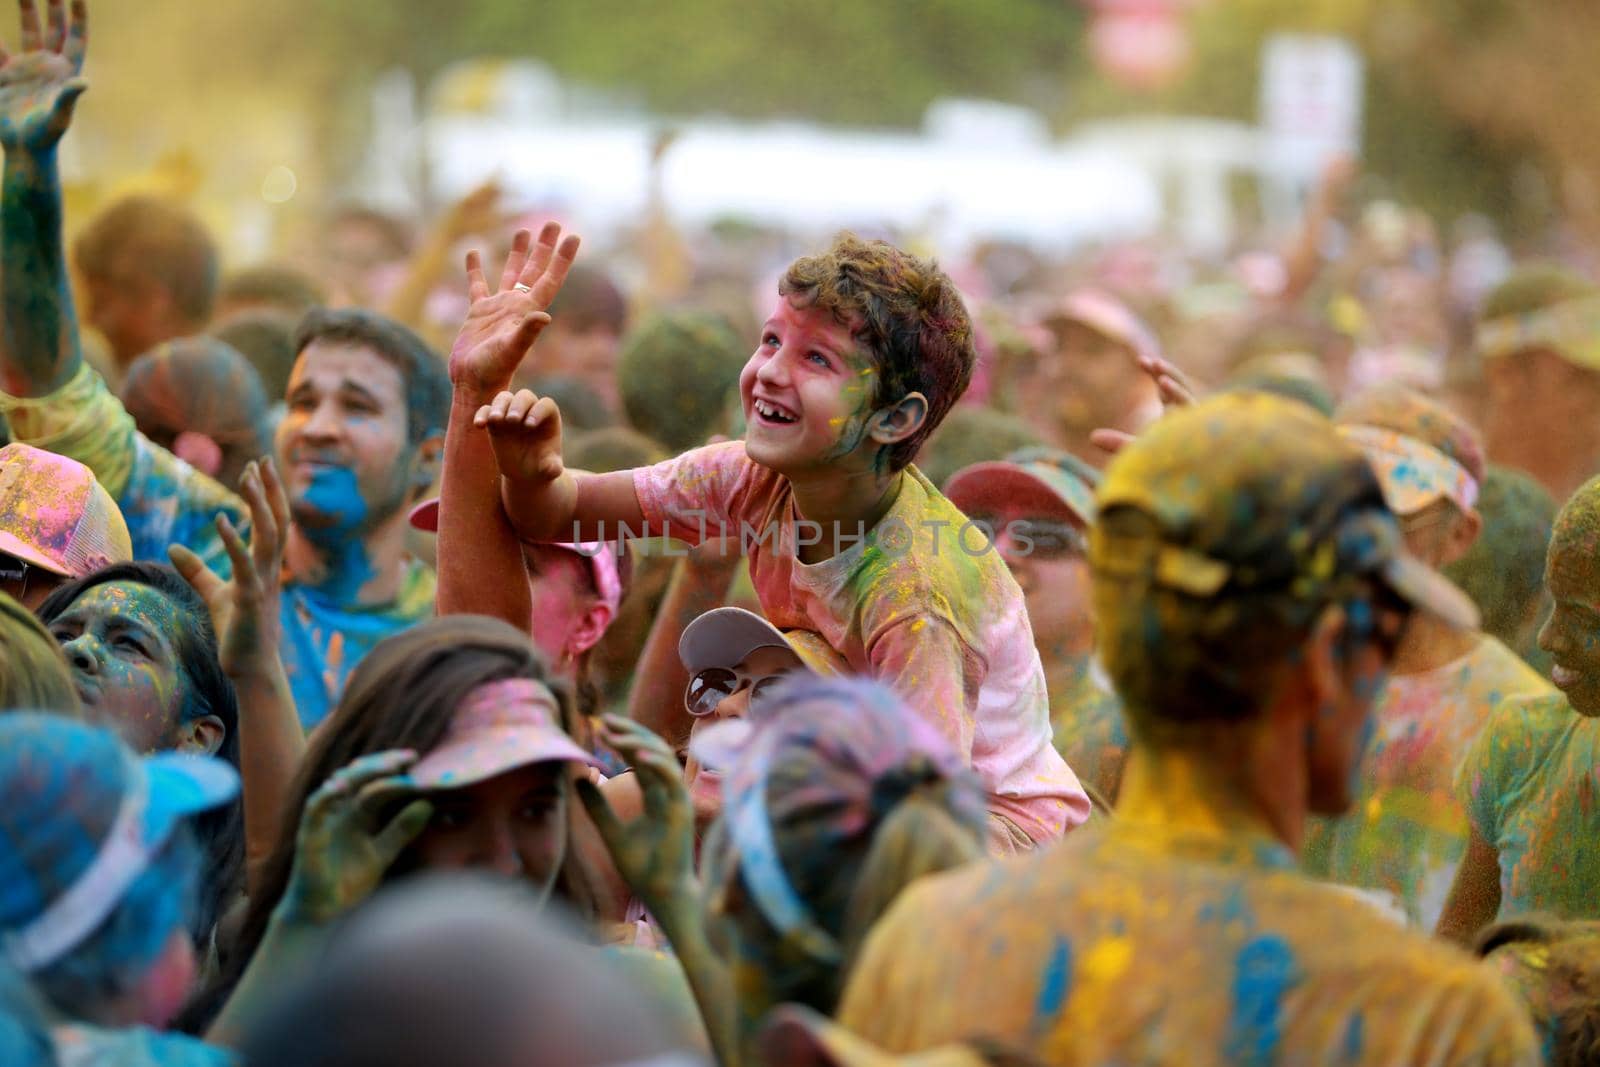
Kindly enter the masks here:
M 1466 593 L 1408 555 L 1362 450 L 1306 405 L 1224 394 L 1163 418 L 1106 472 L 1102 520 L 1136 509 L 1157 536 L 1096 526 L 1098 574 L 1144 576 L 1190 597 L 1280 592 L 1326 603 L 1378 577 L 1413 606 L 1477 625 Z

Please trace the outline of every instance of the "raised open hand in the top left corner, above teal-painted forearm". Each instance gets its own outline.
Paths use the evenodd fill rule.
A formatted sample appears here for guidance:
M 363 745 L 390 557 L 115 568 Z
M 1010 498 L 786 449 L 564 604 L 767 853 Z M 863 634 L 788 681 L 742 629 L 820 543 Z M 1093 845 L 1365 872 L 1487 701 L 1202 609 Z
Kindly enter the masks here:
M 88 45 L 88 8 L 72 0 L 48 0 L 48 22 L 40 26 L 38 2 L 21 0 L 21 51 L 0 50 L 0 146 L 6 152 L 46 152 L 72 123 Z

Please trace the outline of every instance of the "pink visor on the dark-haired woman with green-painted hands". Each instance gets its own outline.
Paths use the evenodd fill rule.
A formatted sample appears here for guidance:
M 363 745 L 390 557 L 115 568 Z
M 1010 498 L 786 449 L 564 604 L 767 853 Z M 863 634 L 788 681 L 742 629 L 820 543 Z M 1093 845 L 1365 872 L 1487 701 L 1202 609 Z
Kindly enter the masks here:
M 411 768 L 422 789 L 461 789 L 533 763 L 600 763 L 560 728 L 555 694 L 533 678 L 480 685 L 445 739 Z

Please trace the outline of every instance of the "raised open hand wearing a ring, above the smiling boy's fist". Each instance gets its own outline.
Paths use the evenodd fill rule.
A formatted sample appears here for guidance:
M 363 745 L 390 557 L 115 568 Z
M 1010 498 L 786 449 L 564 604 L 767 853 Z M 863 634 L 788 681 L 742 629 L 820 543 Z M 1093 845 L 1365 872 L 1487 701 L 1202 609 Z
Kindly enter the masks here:
M 562 238 L 557 222 L 546 222 L 539 240 L 517 230 L 499 286 L 491 290 L 477 251 L 467 253 L 467 320 L 450 347 L 450 382 L 493 397 L 510 386 L 528 349 L 550 322 L 546 309 L 566 280 L 578 256 L 578 237 Z

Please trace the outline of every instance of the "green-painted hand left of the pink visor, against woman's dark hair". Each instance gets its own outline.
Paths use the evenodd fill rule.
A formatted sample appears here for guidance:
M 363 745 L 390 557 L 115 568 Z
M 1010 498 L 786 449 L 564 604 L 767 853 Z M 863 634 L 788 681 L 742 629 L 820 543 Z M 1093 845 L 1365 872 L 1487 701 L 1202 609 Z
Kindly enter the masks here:
M 434 805 L 414 798 L 405 769 L 416 752 L 397 749 L 362 757 L 336 771 L 306 801 L 294 841 L 294 867 L 278 913 L 288 921 L 330 923 L 365 901 L 389 867 L 434 817 Z

